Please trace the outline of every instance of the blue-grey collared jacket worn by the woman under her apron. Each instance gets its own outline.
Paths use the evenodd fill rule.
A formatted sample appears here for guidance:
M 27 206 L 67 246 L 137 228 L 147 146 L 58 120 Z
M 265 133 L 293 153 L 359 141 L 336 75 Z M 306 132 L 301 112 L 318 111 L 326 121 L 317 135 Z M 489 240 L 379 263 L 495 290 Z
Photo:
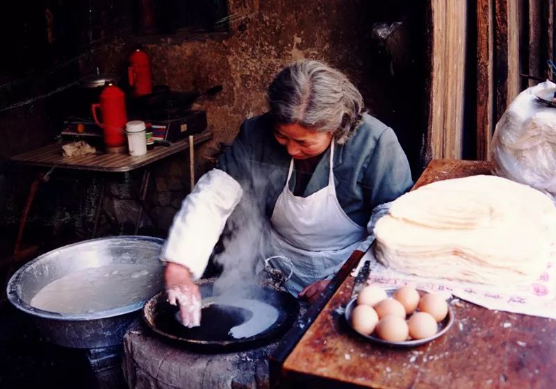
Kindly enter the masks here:
M 328 184 L 329 153 L 327 149 L 322 155 L 304 197 Z M 290 160 L 275 140 L 271 119 L 265 114 L 243 122 L 217 168 L 234 177 L 244 192 L 250 193 L 247 198 L 256 199 L 270 219 L 286 184 Z M 345 144 L 336 144 L 333 172 L 340 206 L 361 226 L 367 225 L 375 206 L 393 201 L 413 185 L 407 157 L 394 131 L 367 114 Z M 289 185 L 293 190 L 295 174 Z

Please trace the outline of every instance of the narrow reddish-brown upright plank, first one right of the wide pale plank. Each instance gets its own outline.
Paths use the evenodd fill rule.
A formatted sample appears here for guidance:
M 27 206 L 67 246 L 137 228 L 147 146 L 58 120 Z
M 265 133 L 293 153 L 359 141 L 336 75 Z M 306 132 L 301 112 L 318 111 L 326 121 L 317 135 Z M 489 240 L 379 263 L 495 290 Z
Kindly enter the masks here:
M 477 160 L 490 160 L 493 134 L 493 0 L 477 0 Z

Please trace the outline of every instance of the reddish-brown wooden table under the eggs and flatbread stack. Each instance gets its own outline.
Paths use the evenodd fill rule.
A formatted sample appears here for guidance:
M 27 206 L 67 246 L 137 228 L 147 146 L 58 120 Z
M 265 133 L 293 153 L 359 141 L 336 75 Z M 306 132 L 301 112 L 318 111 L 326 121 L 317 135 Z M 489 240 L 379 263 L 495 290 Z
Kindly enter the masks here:
M 486 162 L 433 160 L 414 188 L 490 169 Z M 452 305 L 450 331 L 426 345 L 395 349 L 362 340 L 336 311 L 350 298 L 349 270 L 361 256 L 338 273 L 338 288 L 327 290 L 331 298 L 322 296 L 322 311 L 304 318 L 308 329 L 296 326 L 271 356 L 275 387 L 556 388 L 556 320 L 460 301 Z

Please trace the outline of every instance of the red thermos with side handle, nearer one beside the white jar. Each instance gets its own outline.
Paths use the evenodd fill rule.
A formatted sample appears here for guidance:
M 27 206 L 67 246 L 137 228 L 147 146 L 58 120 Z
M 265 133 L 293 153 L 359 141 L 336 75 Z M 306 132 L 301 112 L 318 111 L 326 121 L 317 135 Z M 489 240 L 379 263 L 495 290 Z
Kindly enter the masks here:
M 100 108 L 102 123 L 97 119 L 97 108 Z M 127 114 L 124 92 L 116 85 L 108 84 L 100 94 L 100 103 L 92 104 L 91 109 L 95 122 L 102 127 L 106 151 L 109 154 L 125 153 Z

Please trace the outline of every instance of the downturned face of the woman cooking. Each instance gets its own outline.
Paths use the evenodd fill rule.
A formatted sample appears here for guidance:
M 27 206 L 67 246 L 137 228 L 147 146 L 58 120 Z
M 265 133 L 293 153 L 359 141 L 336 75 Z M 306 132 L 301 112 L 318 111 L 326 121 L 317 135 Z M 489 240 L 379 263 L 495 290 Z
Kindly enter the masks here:
M 277 124 L 274 136 L 294 159 L 322 154 L 332 141 L 332 133 L 317 132 L 300 124 Z

